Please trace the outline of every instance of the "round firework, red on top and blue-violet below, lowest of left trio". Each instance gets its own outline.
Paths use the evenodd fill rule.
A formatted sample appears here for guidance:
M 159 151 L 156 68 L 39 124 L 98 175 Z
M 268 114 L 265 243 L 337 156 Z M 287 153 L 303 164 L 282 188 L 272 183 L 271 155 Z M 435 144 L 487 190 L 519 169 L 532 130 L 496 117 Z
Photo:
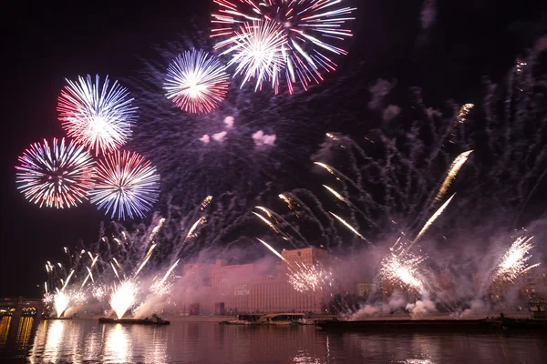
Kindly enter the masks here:
M 116 151 L 99 160 L 91 202 L 105 208 L 111 217 L 144 217 L 160 194 L 156 167 L 138 153 Z

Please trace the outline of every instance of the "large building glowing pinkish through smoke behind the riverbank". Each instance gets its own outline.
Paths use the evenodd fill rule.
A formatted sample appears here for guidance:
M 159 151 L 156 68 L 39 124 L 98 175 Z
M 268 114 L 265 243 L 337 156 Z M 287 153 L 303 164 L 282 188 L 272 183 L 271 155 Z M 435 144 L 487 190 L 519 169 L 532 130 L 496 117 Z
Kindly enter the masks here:
M 256 264 L 227 265 L 223 260 L 214 264 L 184 265 L 182 283 L 187 294 L 178 306 L 185 314 L 226 314 L 243 312 L 319 312 L 323 290 L 298 292 L 288 281 L 289 268 L 329 265 L 329 255 L 319 248 L 282 251 L 286 260 L 264 273 Z

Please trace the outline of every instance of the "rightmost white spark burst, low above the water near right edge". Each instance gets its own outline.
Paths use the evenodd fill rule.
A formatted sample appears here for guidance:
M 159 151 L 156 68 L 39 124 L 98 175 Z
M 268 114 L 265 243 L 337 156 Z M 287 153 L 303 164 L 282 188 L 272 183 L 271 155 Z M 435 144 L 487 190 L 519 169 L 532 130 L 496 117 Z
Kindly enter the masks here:
M 493 280 L 501 279 L 514 282 L 516 278 L 526 271 L 540 266 L 541 263 L 528 266 L 528 260 L 532 258 L 530 250 L 534 246 L 530 243 L 534 237 L 522 236 L 516 238 L 511 247 L 507 249 L 496 268 Z

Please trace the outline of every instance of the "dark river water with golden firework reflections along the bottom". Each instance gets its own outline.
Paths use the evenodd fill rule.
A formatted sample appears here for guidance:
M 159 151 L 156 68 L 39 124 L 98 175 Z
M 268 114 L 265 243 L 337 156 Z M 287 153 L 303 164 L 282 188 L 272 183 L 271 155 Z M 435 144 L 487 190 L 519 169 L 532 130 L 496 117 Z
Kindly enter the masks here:
M 32 318 L 7 334 L 7 319 L 0 321 L 2 362 L 547 363 L 547 338 L 539 335 L 343 333 L 183 319 L 151 327 Z

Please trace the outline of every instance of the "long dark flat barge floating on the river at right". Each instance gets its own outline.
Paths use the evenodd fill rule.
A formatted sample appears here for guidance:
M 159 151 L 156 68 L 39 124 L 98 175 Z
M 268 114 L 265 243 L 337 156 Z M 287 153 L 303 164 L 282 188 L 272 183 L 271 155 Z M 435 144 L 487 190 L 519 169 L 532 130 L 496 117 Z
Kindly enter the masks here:
M 328 320 L 316 323 L 322 329 L 359 331 L 453 331 L 546 330 L 547 321 L 535 319 L 386 319 Z

